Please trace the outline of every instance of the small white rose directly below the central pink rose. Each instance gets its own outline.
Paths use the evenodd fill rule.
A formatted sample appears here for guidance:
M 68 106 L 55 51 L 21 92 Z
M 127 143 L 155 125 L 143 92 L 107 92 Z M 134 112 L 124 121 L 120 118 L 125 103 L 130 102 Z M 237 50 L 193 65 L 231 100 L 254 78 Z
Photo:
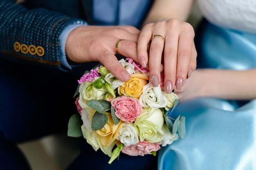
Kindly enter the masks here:
M 125 123 L 119 130 L 117 140 L 120 140 L 125 146 L 135 145 L 139 142 L 137 128 L 135 129 L 133 123 Z

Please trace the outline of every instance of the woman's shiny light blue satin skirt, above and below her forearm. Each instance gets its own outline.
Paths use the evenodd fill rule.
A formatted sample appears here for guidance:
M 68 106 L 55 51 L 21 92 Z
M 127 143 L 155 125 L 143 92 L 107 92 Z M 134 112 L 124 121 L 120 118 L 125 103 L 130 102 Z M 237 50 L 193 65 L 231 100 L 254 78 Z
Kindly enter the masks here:
M 207 21 L 201 24 L 199 33 L 200 68 L 256 68 L 255 34 L 220 28 Z M 159 170 L 256 169 L 256 100 L 245 104 L 197 98 L 181 102 L 173 114 L 186 116 L 186 137 L 159 151 Z

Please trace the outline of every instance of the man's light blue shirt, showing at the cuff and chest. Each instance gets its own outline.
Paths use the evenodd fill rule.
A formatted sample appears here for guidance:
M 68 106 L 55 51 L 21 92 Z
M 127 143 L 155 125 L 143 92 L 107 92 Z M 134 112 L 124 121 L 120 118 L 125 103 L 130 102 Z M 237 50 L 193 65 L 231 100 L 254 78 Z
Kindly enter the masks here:
M 130 25 L 139 27 L 152 0 L 93 0 L 93 25 Z M 74 23 L 65 28 L 61 35 L 63 58 L 67 35 L 79 26 L 88 25 L 86 22 Z M 67 60 L 61 61 L 66 68 L 72 68 Z

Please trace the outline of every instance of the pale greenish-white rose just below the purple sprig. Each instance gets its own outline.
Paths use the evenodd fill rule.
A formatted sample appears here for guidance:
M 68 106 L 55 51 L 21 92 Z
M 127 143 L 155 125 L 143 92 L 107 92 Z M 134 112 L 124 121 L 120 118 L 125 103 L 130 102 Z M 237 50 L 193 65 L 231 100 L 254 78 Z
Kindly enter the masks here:
M 86 105 L 86 103 L 89 100 L 100 100 L 100 99 L 104 99 L 103 94 L 108 92 L 107 88 L 105 86 L 103 86 L 101 89 L 97 89 L 94 86 L 92 87 L 92 89 L 88 92 L 85 92 L 86 88 L 91 85 L 92 82 L 83 82 L 80 84 L 79 87 L 79 105 L 83 108 L 86 109 L 88 108 L 88 106 Z

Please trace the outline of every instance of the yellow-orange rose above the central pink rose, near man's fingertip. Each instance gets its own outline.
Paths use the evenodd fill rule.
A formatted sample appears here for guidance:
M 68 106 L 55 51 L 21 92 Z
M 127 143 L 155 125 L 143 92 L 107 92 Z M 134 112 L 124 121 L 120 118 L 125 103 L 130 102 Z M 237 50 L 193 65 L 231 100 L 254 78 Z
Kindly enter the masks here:
M 118 87 L 118 94 L 139 99 L 146 84 L 148 84 L 148 76 L 141 73 L 132 74 L 129 81 Z

